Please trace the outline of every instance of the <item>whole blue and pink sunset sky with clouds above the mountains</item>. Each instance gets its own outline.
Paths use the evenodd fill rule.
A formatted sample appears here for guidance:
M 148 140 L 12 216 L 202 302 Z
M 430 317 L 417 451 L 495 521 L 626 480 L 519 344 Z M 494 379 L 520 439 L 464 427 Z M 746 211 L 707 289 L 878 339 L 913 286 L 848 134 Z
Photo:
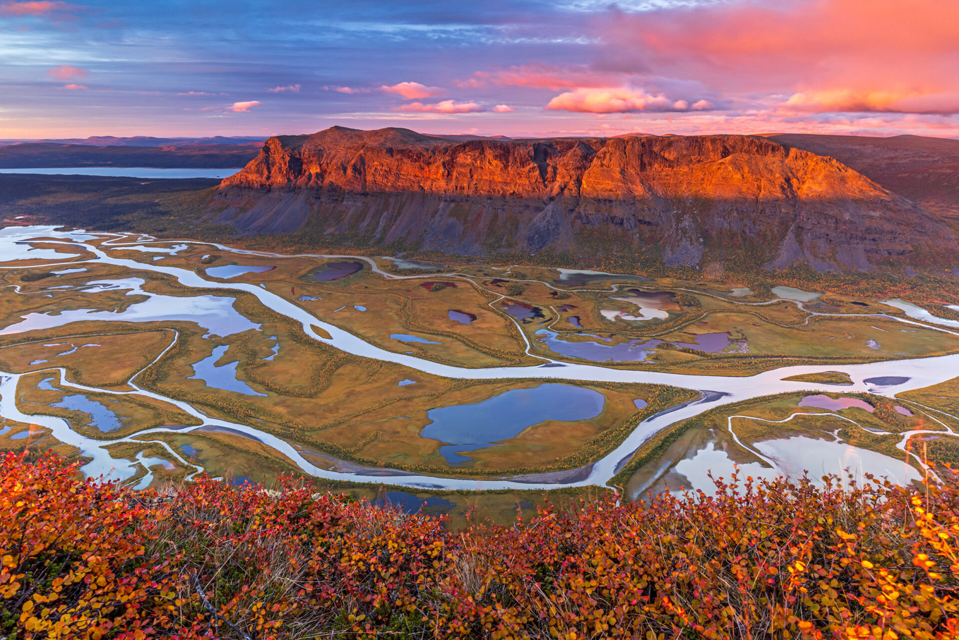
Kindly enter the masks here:
M 959 136 L 959 0 L 0 0 L 0 138 Z

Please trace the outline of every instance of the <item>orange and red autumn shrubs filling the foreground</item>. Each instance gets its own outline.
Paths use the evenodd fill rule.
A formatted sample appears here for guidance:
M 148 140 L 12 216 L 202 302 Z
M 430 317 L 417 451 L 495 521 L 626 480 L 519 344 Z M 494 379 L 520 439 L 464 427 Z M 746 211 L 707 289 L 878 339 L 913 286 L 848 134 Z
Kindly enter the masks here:
M 946 474 L 947 475 L 947 474 Z M 0 635 L 949 638 L 959 485 L 719 484 L 715 496 L 442 520 L 201 480 L 133 492 L 0 466 Z

